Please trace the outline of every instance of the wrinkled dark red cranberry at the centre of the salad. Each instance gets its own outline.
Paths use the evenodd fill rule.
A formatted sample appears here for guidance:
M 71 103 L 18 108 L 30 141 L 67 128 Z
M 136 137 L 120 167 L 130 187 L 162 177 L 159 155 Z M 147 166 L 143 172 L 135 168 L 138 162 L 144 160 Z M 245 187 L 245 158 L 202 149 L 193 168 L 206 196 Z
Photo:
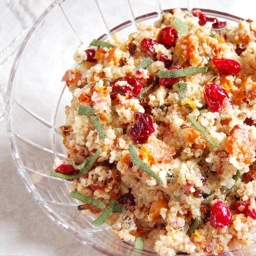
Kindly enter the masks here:
M 131 126 L 129 136 L 138 144 L 143 144 L 154 133 L 155 127 L 150 115 L 134 112 L 135 124 Z

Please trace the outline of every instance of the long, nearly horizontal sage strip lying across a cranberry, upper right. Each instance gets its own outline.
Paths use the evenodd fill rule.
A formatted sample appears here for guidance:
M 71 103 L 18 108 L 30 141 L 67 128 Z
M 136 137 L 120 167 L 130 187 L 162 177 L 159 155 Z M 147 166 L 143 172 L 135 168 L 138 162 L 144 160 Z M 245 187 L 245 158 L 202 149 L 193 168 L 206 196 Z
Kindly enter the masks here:
M 201 68 L 182 68 L 182 69 L 172 69 L 172 70 L 162 70 L 158 72 L 159 78 L 177 78 L 188 76 L 197 73 L 206 73 L 208 67 Z

